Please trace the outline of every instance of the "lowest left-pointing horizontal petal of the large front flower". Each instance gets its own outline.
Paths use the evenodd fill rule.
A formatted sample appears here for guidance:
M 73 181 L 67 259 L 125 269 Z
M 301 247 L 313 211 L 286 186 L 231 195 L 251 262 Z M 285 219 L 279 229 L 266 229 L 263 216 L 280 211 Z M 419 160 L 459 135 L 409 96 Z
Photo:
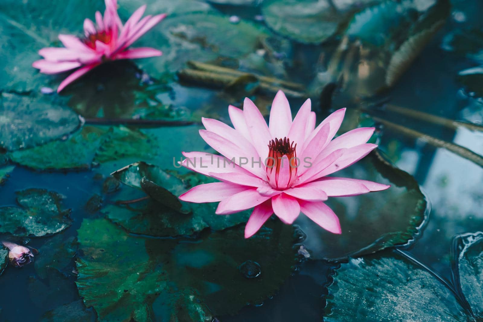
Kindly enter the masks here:
M 246 190 L 238 184 L 227 182 L 212 182 L 197 185 L 179 196 L 187 202 L 217 202 Z

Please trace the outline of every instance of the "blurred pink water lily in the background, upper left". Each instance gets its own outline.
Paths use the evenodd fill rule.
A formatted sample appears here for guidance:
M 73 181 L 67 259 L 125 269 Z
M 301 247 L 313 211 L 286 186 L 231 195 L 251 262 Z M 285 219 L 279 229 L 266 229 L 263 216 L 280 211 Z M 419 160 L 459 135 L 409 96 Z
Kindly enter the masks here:
M 159 50 L 150 47 L 133 49 L 128 47 L 160 22 L 166 14 L 147 15 L 141 19 L 146 9 L 146 5 L 143 5 L 123 26 L 117 14 L 117 0 L 105 0 L 105 2 L 104 16 L 99 11 L 96 12 L 96 25 L 90 19 L 84 20 L 84 38 L 59 35 L 59 40 L 65 48 L 42 48 L 39 55 L 44 59 L 32 64 L 45 74 L 57 74 L 80 67 L 60 83 L 57 92 L 104 61 L 162 55 Z

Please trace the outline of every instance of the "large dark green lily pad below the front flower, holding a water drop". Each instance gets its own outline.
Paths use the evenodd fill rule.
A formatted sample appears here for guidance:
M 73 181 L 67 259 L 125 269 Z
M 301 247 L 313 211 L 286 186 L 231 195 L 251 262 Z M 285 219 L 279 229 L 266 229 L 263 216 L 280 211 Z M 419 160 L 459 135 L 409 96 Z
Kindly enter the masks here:
M 78 238 L 77 287 L 99 321 L 212 321 L 273 294 L 294 264 L 292 228 L 278 222 L 247 240 L 242 229 L 177 240 L 84 219 Z M 241 274 L 247 260 L 257 277 Z

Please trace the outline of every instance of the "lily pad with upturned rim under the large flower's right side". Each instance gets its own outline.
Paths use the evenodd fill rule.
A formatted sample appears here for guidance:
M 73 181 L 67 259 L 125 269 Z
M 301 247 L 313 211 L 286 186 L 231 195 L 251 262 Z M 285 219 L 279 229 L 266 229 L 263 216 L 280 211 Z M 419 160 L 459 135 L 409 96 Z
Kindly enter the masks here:
M 410 174 L 387 163 L 379 152 L 335 175 L 391 187 L 361 196 L 329 198 L 327 205 L 339 217 L 341 235 L 299 216 L 296 224 L 307 234 L 304 244 L 314 258 L 341 259 L 377 252 L 407 244 L 419 234 L 426 216 L 426 198 Z

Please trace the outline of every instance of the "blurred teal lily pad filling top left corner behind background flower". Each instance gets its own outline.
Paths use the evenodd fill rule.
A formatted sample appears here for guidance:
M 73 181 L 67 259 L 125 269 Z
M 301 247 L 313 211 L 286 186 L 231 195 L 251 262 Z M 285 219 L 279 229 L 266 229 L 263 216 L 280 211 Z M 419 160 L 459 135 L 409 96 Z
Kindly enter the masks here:
M 37 52 L 43 47 L 60 46 L 59 34 L 82 32 L 84 19 L 94 18 L 96 10 L 103 12 L 104 4 L 87 0 L 59 1 L 46 6 L 42 1 L 5 0 L 2 8 L 0 89 L 27 92 L 61 79 L 40 74 L 32 67 L 35 60 L 42 58 Z

